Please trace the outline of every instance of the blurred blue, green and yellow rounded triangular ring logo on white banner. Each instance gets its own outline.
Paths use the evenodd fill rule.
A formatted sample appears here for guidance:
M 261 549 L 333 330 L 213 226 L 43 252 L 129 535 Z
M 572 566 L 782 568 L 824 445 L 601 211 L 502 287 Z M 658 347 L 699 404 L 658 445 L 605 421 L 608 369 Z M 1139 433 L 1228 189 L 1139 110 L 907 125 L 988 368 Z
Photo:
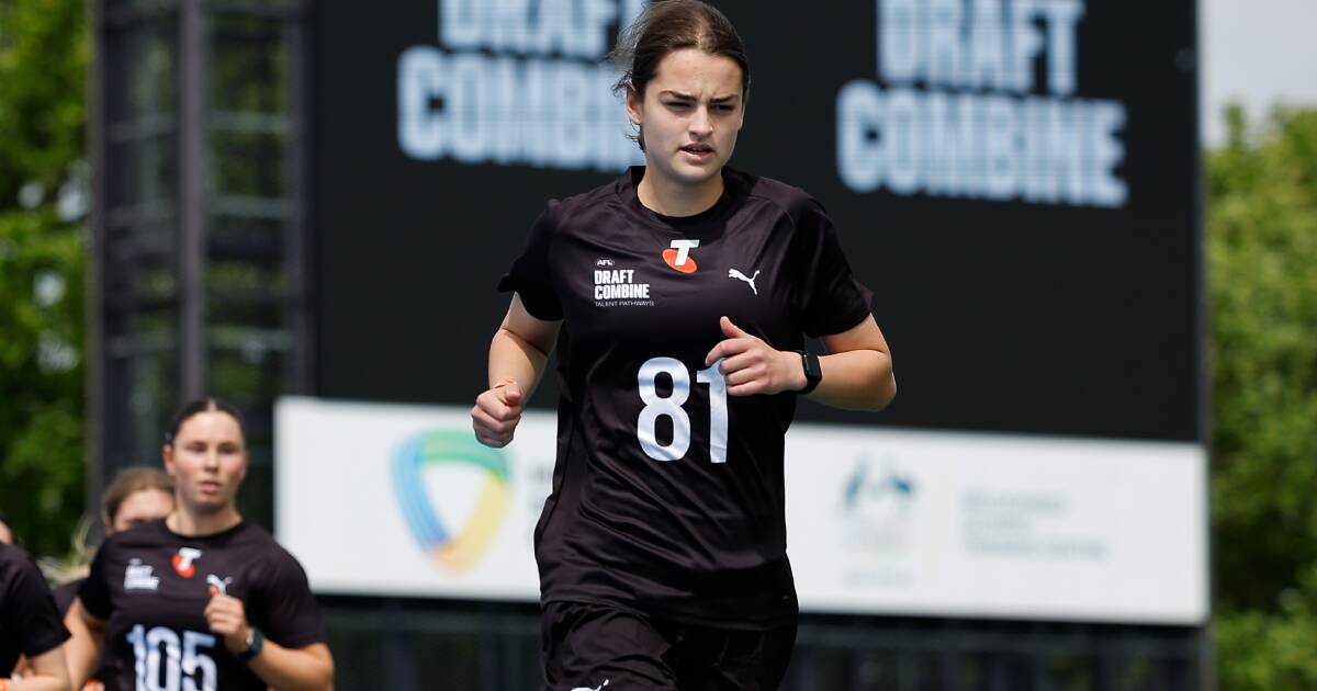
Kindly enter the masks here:
M 479 471 L 475 504 L 460 525 L 445 524 L 425 491 L 427 467 L 457 466 Z M 420 546 L 452 571 L 470 569 L 494 542 L 507 517 L 510 492 L 507 459 L 481 446 L 470 432 L 425 432 L 402 444 L 392 461 L 394 491 L 403 517 Z

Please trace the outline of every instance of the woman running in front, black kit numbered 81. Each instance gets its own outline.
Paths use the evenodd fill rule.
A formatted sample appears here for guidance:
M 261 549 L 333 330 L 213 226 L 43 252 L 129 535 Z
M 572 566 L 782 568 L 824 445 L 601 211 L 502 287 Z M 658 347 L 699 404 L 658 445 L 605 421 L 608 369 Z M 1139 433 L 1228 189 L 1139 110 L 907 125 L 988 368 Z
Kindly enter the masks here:
M 616 57 L 645 165 L 531 229 L 475 437 L 512 440 L 557 345 L 535 533 L 547 688 L 776 688 L 798 617 L 786 428 L 799 396 L 886 405 L 892 357 L 823 207 L 726 167 L 751 82 L 727 18 L 655 3 Z

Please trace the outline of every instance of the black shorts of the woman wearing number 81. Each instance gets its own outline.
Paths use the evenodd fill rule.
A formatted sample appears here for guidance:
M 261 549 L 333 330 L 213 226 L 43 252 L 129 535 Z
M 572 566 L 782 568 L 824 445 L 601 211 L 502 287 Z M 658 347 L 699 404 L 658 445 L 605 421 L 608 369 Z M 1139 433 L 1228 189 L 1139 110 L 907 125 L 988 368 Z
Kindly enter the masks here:
M 543 608 L 545 691 L 770 691 L 795 625 L 736 630 L 677 624 L 602 604 Z

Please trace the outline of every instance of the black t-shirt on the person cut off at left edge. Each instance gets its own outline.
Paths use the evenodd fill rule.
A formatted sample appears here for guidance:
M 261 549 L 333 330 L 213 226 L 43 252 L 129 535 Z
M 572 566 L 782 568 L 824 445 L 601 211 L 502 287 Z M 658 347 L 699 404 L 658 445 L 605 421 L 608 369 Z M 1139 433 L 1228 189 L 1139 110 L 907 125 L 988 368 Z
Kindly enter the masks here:
M 46 579 L 26 551 L 0 542 L 0 679 L 18 655 L 46 654 L 68 638 Z

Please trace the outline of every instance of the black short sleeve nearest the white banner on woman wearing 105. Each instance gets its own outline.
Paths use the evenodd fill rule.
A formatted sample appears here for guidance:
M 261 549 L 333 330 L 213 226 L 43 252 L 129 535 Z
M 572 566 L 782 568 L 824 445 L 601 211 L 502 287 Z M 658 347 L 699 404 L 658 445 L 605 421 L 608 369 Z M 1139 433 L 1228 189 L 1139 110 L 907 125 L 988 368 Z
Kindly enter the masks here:
M 325 642 L 320 605 L 311 594 L 307 573 L 291 554 L 282 553 L 271 561 L 261 584 L 259 609 L 252 612 L 253 623 L 261 633 L 284 648 L 306 648 Z

